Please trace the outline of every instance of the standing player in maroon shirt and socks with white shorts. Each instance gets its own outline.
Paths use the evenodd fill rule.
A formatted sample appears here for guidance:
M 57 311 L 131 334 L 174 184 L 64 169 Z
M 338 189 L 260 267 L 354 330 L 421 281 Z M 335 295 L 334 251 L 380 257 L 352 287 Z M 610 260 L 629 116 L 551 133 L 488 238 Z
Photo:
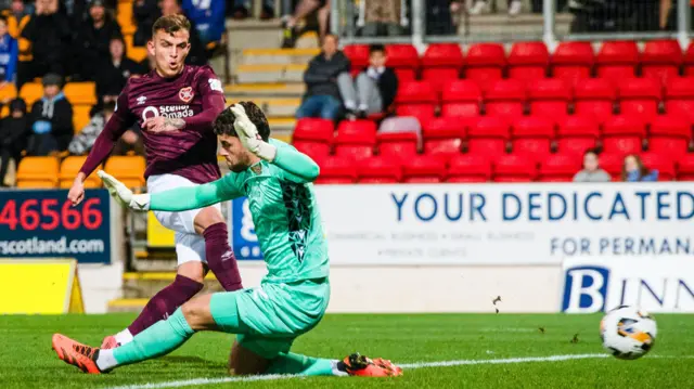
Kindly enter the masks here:
M 128 80 L 111 120 L 67 195 L 74 205 L 85 198 L 85 179 L 108 157 L 116 141 L 136 121 L 143 129 L 147 192 L 194 186 L 221 177 L 211 125 L 224 109 L 224 95 L 209 66 L 184 65 L 190 51 L 190 28 L 183 15 L 163 16 L 154 24 L 147 52 L 155 60 L 155 69 Z M 164 226 L 176 231 L 178 274 L 171 285 L 147 302 L 128 328 L 104 338 L 102 348 L 130 342 L 134 335 L 166 319 L 195 296 L 203 288 L 205 262 L 226 290 L 242 288 L 218 205 L 154 213 Z

